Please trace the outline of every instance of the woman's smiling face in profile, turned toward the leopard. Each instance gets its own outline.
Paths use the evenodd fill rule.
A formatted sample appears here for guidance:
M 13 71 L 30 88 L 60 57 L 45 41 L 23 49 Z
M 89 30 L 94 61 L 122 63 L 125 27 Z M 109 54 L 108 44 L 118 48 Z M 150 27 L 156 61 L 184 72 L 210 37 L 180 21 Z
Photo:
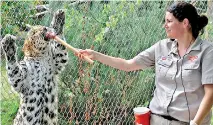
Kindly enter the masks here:
M 170 12 L 166 12 L 164 28 L 166 30 L 167 37 L 171 39 L 178 39 L 183 36 L 183 23 L 179 22 Z

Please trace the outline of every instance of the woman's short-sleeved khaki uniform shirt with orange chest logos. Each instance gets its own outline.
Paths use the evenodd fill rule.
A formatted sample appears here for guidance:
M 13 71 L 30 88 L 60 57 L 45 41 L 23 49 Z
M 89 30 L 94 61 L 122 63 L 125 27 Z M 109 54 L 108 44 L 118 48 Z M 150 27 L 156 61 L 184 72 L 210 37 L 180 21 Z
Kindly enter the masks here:
M 177 42 L 164 39 L 134 59 L 142 69 L 155 67 L 151 111 L 184 122 L 189 122 L 189 116 L 192 120 L 204 96 L 203 85 L 213 84 L 213 44 L 197 38 L 180 57 Z M 210 117 L 204 121 L 210 121 Z

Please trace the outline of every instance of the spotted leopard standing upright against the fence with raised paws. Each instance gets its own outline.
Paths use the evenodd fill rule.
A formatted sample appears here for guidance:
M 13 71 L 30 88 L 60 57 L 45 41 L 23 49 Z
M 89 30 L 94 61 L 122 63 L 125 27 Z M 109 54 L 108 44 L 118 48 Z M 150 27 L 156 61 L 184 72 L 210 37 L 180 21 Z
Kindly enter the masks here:
M 17 59 L 17 37 L 1 40 L 8 83 L 18 93 L 20 105 L 13 125 L 58 125 L 59 74 L 68 62 L 65 46 L 46 37 L 53 32 L 64 41 L 65 11 L 53 13 L 50 26 L 30 26 L 23 42 L 24 57 Z

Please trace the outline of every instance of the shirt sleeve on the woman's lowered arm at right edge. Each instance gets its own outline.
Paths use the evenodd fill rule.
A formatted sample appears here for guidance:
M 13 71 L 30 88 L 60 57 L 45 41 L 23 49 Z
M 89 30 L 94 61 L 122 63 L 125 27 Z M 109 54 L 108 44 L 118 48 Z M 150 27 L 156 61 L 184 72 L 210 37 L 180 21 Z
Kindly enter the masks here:
M 202 84 L 213 84 L 213 48 L 208 51 L 201 62 Z

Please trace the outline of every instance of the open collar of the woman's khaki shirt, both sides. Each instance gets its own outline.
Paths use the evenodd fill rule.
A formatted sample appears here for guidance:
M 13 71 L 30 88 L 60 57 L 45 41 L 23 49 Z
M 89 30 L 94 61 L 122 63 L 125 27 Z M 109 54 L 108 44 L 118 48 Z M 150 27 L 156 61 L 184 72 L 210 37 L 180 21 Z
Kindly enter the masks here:
M 170 39 L 170 41 L 172 42 L 172 46 L 171 46 L 171 50 L 170 50 L 169 54 L 171 54 L 171 53 L 178 54 L 177 41 L 176 40 L 172 41 L 171 39 Z M 201 44 L 202 44 L 202 40 L 199 37 L 197 37 L 195 42 L 190 46 L 187 53 L 189 53 L 191 50 L 200 50 Z

